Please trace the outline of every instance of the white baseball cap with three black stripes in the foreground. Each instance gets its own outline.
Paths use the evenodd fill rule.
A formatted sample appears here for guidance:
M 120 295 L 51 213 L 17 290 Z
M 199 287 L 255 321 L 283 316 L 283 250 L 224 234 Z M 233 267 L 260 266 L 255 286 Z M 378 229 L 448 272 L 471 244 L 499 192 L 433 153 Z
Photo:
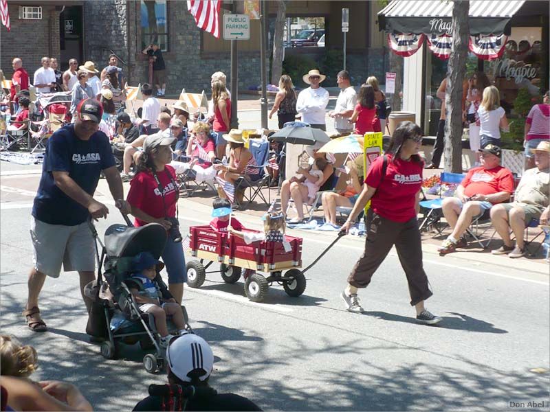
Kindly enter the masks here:
M 188 333 L 170 341 L 166 349 L 166 362 L 179 380 L 191 382 L 197 378 L 204 381 L 212 373 L 214 354 L 204 339 Z

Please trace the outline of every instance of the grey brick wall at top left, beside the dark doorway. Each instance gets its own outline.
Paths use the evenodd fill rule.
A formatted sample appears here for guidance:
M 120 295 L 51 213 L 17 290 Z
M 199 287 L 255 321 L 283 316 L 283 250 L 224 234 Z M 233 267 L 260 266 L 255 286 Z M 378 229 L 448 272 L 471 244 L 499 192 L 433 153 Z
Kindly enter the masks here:
M 11 31 L 0 26 L 0 69 L 11 80 L 12 60 L 19 57 L 28 71 L 30 80 L 34 71 L 41 67 L 43 56 L 59 58 L 59 13 L 55 5 L 42 6 L 41 20 L 19 19 L 19 5 L 8 1 Z

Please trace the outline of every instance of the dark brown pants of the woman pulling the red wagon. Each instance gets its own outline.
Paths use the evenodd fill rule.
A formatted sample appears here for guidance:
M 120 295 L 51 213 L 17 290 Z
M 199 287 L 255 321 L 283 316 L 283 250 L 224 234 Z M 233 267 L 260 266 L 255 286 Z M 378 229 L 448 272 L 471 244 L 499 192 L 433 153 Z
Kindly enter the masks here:
M 372 209 L 366 215 L 365 251 L 353 267 L 348 283 L 355 288 L 366 288 L 376 269 L 395 244 L 401 267 L 405 271 L 410 293 L 410 305 L 432 296 L 428 277 L 422 266 L 420 231 L 416 218 L 408 222 L 394 222 L 375 214 Z

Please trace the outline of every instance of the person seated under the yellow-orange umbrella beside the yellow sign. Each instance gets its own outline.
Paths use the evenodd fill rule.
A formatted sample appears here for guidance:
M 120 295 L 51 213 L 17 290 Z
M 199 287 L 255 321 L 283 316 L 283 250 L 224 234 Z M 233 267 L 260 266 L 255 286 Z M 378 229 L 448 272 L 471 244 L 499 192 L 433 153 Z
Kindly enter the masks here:
M 322 210 L 325 213 L 325 222 L 329 225 L 338 226 L 336 222 L 336 207 L 353 207 L 359 194 L 363 190 L 363 157 L 359 156 L 355 161 L 347 162 L 349 168 L 349 184 L 346 190 L 340 193 L 325 192 L 322 194 Z

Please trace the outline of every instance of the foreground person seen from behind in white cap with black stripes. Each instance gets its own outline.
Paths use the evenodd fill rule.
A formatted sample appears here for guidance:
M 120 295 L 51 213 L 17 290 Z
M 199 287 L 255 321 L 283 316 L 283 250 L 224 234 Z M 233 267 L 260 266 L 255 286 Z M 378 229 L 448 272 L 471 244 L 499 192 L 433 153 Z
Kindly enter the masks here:
M 151 385 L 149 396 L 133 410 L 164 411 L 170 404 L 173 411 L 261 411 L 247 398 L 212 389 L 208 380 L 213 368 L 214 354 L 204 339 L 196 334 L 175 337 L 166 349 L 168 383 Z

